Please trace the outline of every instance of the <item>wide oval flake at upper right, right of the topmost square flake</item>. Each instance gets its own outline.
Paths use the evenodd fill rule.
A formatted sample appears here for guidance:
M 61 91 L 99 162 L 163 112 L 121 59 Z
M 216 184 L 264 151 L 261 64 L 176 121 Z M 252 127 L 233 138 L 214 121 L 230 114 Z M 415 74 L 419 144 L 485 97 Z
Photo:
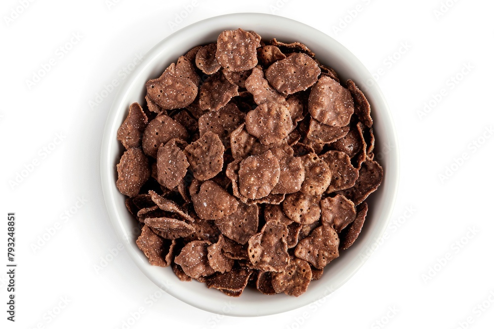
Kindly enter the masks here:
M 294 53 L 273 63 L 266 70 L 266 79 L 283 95 L 306 90 L 317 81 L 321 70 L 307 54 Z

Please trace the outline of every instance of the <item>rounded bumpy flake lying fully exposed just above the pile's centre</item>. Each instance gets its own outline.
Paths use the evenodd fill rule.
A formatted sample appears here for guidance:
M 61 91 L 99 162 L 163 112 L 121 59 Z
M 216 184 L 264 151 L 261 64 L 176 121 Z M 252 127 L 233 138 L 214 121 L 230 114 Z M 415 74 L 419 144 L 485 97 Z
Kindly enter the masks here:
M 246 115 L 247 132 L 264 145 L 280 142 L 293 130 L 290 112 L 283 103 L 263 103 Z

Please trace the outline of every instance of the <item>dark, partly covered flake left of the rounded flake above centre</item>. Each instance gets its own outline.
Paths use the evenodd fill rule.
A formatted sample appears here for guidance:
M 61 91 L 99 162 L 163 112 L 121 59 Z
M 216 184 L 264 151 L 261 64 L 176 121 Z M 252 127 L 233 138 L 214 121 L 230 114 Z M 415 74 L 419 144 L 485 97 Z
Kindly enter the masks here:
M 203 136 L 207 131 L 217 134 L 226 147 L 230 146 L 230 133 L 244 122 L 245 113 L 229 103 L 220 110 L 210 111 L 199 118 L 199 133 Z

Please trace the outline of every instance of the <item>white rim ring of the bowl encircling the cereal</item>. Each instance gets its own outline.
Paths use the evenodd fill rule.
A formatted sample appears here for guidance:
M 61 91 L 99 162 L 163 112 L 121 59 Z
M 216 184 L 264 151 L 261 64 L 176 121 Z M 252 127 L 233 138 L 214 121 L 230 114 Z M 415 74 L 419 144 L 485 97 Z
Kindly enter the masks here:
M 275 307 L 273 310 L 268 310 L 268 309 L 263 309 L 260 311 L 257 311 L 255 314 L 245 312 L 242 310 L 234 310 L 234 311 L 224 311 L 223 308 L 218 308 L 218 305 L 214 303 L 207 303 L 205 300 L 198 300 L 195 298 L 191 298 L 191 296 L 184 296 L 184 295 L 179 295 L 179 293 L 174 289 L 176 285 L 174 283 L 170 283 L 167 280 L 159 280 L 157 276 L 155 275 L 156 271 L 153 269 L 153 267 L 157 266 L 152 266 L 149 264 L 148 261 L 143 261 L 143 255 L 139 255 L 136 253 L 135 246 L 131 245 L 130 242 L 130 235 L 126 231 L 126 227 L 124 226 L 123 220 L 120 218 L 118 215 L 118 208 L 121 207 L 122 205 L 117 205 L 117 200 L 119 199 L 115 195 L 115 190 L 118 192 L 115 186 L 115 180 L 114 180 L 114 173 L 115 173 L 115 159 L 112 157 L 112 145 L 115 143 L 116 140 L 116 132 L 118 127 L 120 127 L 121 122 L 119 123 L 119 113 L 122 110 L 122 108 L 127 109 L 128 105 L 127 102 L 125 101 L 129 91 L 131 88 L 134 86 L 134 82 L 136 77 L 138 77 L 143 71 L 148 68 L 151 64 L 155 63 L 157 60 L 158 56 L 162 52 L 162 48 L 166 45 L 167 42 L 173 41 L 174 38 L 177 38 L 178 36 L 181 35 L 187 35 L 190 32 L 193 32 L 197 30 L 198 28 L 201 27 L 206 27 L 212 23 L 216 23 L 215 28 L 219 28 L 219 23 L 228 21 L 230 25 L 232 25 L 232 22 L 239 22 L 239 23 L 233 23 L 234 25 L 242 26 L 247 23 L 240 23 L 240 22 L 248 22 L 249 20 L 260 20 L 262 19 L 263 21 L 276 21 L 279 23 L 283 24 L 288 24 L 290 26 L 290 29 L 293 30 L 300 30 L 300 31 L 308 31 L 312 34 L 317 34 L 318 36 L 322 38 L 326 38 L 326 41 L 329 41 L 331 48 L 334 48 L 333 50 L 334 53 L 338 53 L 339 56 L 346 56 L 348 57 L 356 66 L 356 70 L 359 72 L 364 73 L 366 76 L 371 77 L 371 73 L 367 70 L 367 68 L 360 62 L 360 60 L 353 55 L 347 48 L 345 48 L 342 44 L 340 44 L 338 41 L 333 39 L 332 37 L 326 35 L 325 33 L 309 26 L 304 23 L 277 16 L 277 15 L 272 15 L 272 14 L 265 14 L 265 13 L 233 13 L 233 14 L 225 14 L 225 15 L 219 15 L 219 16 L 214 16 L 210 17 L 195 23 L 192 23 L 188 26 L 183 27 L 182 29 L 170 34 L 169 36 L 165 37 L 162 41 L 157 43 L 151 50 L 147 52 L 147 54 L 144 56 L 143 61 L 139 66 L 135 68 L 133 72 L 129 74 L 127 79 L 122 83 L 120 86 L 115 99 L 110 107 L 107 120 L 104 126 L 104 132 L 103 132 L 103 137 L 102 137 L 102 142 L 101 142 L 101 153 L 100 153 L 100 175 L 101 175 L 101 187 L 103 190 L 103 197 L 105 201 L 105 206 L 107 209 L 108 216 L 112 222 L 112 225 L 114 229 L 116 230 L 117 233 L 119 233 L 119 239 L 123 243 L 126 252 L 129 254 L 133 262 L 138 266 L 138 268 L 143 272 L 153 283 L 155 283 L 158 287 L 160 287 L 162 290 L 167 292 L 168 294 L 174 296 L 175 298 L 182 300 L 185 303 L 188 303 L 189 305 L 192 305 L 194 307 L 197 307 L 199 309 L 211 312 L 211 313 L 216 313 L 216 314 L 222 314 L 222 315 L 229 315 L 229 316 L 265 316 L 265 315 L 272 315 L 272 314 L 278 314 L 278 313 L 283 313 L 287 312 L 305 305 L 310 304 L 311 302 L 314 302 L 318 300 L 319 298 L 326 297 L 329 295 L 331 292 L 334 292 L 337 290 L 339 287 L 341 287 L 343 284 L 345 284 L 353 275 L 364 265 L 364 263 L 369 259 L 369 256 L 373 253 L 374 250 L 371 250 L 370 253 L 366 254 L 365 257 L 361 259 L 355 259 L 351 261 L 351 264 L 348 265 L 348 267 L 351 266 L 351 270 L 347 271 L 348 273 L 346 274 L 346 277 L 342 280 L 339 281 L 337 285 L 331 285 L 329 288 L 326 288 L 325 292 L 323 292 L 322 295 L 315 299 L 311 300 L 304 300 L 303 302 L 291 302 L 287 303 L 286 305 L 278 306 Z M 224 26 L 224 24 L 223 24 Z M 255 29 L 252 29 L 255 31 Z M 303 38 L 303 37 L 302 37 Z M 302 39 L 300 39 L 303 41 Z M 310 48 L 310 47 L 309 47 Z M 336 71 L 338 71 L 336 69 Z M 140 86 L 142 87 L 142 86 Z M 385 168 L 385 180 L 386 180 L 386 186 L 389 189 L 388 196 L 390 196 L 390 199 L 387 199 L 387 205 L 383 210 L 383 215 L 378 219 L 380 221 L 378 229 L 374 230 L 371 234 L 373 234 L 374 239 L 373 241 L 381 238 L 382 235 L 384 234 L 385 230 L 387 229 L 389 220 L 391 218 L 394 204 L 396 201 L 397 197 L 397 191 L 398 191 L 398 185 L 399 185 L 399 177 L 400 177 L 400 158 L 399 158 L 399 146 L 398 146 L 398 138 L 397 138 L 397 133 L 396 133 L 396 128 L 395 124 L 392 118 L 392 113 L 386 103 L 386 100 L 384 98 L 384 95 L 380 88 L 378 87 L 377 83 L 374 81 L 373 84 L 369 86 L 365 86 L 366 89 L 371 89 L 369 90 L 364 90 L 365 93 L 371 92 L 373 96 L 377 99 L 377 101 L 380 103 L 379 104 L 379 112 L 382 113 L 380 116 L 385 119 L 384 126 L 386 126 L 386 133 L 387 135 L 390 136 L 392 139 L 393 143 L 393 151 L 389 152 L 387 155 L 390 157 L 391 164 L 393 165 L 392 168 Z M 367 88 L 369 87 L 369 88 Z M 367 94 L 366 94 L 367 95 Z M 384 134 L 382 134 L 384 135 Z M 391 177 L 390 177 L 391 175 Z M 389 180 L 392 179 L 391 182 Z M 383 182 L 384 183 L 384 182 Z M 381 187 L 382 188 L 382 184 Z M 377 219 L 376 219 L 377 220 Z M 135 242 L 133 242 L 135 245 Z M 140 251 L 139 251 L 140 252 Z M 141 253 L 142 254 L 142 253 Z M 147 259 L 146 259 L 147 260 Z M 359 262 L 360 261 L 360 262 Z M 314 281 L 313 281 L 314 282 Z M 191 282 L 184 283 L 187 285 L 192 284 Z M 204 284 L 201 284 L 204 285 Z M 327 286 L 328 287 L 328 286 Z M 278 294 L 280 295 L 280 294 Z M 264 296 L 264 295 L 263 295 Z M 197 296 L 196 296 L 197 297 Z M 267 298 L 270 297 L 275 297 L 275 296 L 265 296 Z M 231 297 L 229 297 L 231 298 Z M 291 297 L 290 298 L 294 298 Z M 300 297 L 298 297 L 300 298 Z M 273 299 L 273 301 L 275 301 Z M 278 303 L 280 304 L 280 302 Z

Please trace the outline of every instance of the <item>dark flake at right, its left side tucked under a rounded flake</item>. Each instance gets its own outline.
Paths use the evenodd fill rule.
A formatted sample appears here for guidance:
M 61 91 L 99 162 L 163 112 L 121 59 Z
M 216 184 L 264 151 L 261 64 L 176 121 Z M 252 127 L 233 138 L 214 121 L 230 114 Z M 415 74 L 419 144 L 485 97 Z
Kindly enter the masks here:
M 331 171 L 331 183 L 326 193 L 347 189 L 355 185 L 359 170 L 352 166 L 350 157 L 345 152 L 328 151 L 320 157 L 328 164 Z

